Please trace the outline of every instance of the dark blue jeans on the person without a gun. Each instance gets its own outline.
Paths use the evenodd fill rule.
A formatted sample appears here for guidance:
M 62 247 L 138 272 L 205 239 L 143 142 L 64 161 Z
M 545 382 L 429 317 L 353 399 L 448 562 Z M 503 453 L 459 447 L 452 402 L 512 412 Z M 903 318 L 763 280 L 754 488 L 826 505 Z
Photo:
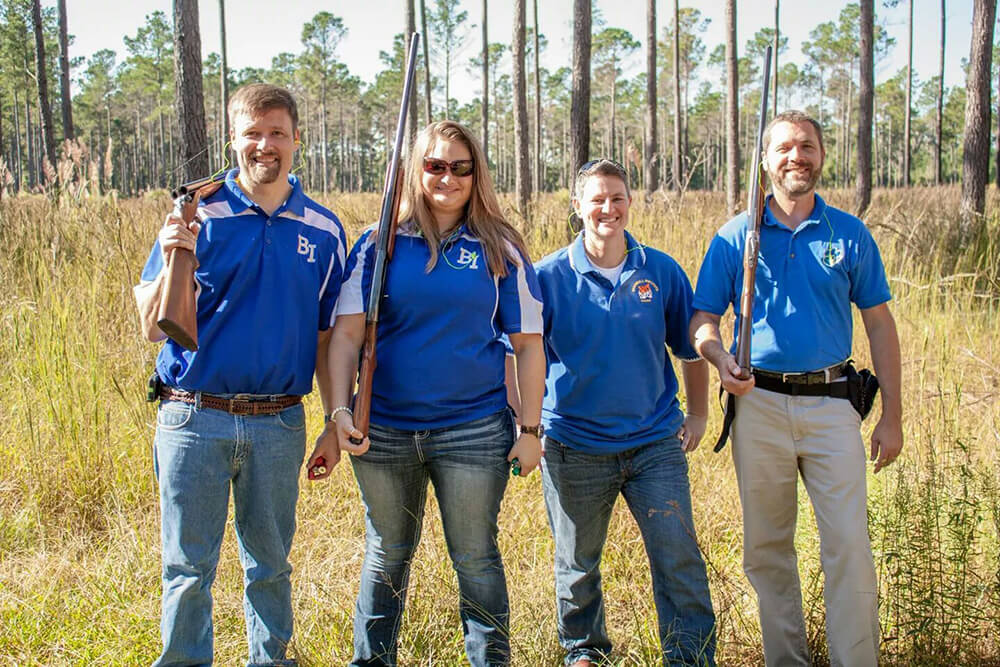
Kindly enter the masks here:
M 687 458 L 674 437 L 620 454 L 584 454 L 545 439 L 542 488 L 555 537 L 559 643 L 566 664 L 611 653 L 601 552 L 625 497 L 646 546 L 666 665 L 715 664 L 715 614 L 695 539 Z

